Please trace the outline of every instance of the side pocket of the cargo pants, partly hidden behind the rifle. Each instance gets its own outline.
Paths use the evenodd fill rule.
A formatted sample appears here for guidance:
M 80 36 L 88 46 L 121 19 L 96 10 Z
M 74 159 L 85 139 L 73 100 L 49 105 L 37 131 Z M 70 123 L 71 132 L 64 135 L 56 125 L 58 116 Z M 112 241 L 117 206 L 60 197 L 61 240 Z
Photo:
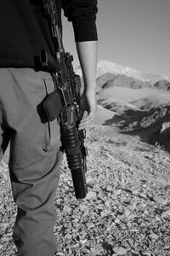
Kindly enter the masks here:
M 54 81 L 50 75 L 42 77 L 46 96 L 54 91 Z M 45 151 L 59 148 L 61 146 L 60 141 L 60 126 L 58 119 L 54 119 L 53 121 L 48 121 L 44 125 L 44 142 L 42 143 L 42 148 Z

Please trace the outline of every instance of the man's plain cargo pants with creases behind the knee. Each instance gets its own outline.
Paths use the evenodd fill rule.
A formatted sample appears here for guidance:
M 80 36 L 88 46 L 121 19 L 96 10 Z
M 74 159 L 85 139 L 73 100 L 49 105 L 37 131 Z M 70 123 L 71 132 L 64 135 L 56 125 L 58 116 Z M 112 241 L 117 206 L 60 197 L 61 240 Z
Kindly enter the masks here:
M 10 142 L 9 174 L 18 207 L 18 256 L 54 256 L 54 196 L 62 160 L 59 124 L 43 122 L 38 106 L 54 90 L 51 75 L 0 68 L 1 158 Z

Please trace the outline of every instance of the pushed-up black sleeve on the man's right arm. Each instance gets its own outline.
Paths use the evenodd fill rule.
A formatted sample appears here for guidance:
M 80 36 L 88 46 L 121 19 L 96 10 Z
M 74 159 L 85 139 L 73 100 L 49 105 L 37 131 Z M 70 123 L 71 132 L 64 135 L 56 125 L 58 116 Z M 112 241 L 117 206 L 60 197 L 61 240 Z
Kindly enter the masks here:
M 61 0 L 64 15 L 72 22 L 75 41 L 95 41 L 97 0 Z

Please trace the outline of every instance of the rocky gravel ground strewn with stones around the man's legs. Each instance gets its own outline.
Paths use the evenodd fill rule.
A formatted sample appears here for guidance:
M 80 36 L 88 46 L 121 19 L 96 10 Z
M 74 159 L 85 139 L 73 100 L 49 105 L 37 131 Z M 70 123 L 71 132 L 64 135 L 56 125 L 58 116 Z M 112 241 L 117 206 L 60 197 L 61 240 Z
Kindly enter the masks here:
M 61 166 L 56 255 L 169 256 L 169 154 L 112 127 L 93 125 L 87 133 L 86 199 L 76 200 L 65 158 Z M 14 256 L 16 207 L 4 160 L 0 189 L 0 255 Z

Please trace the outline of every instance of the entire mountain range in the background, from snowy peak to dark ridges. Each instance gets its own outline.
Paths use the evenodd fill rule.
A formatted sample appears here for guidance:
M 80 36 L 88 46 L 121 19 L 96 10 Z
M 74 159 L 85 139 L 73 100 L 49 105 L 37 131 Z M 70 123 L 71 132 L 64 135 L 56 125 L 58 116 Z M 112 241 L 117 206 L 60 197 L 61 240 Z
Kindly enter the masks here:
M 80 67 L 76 70 L 82 75 Z M 170 78 L 99 61 L 96 80 L 95 124 L 138 135 L 170 153 Z

